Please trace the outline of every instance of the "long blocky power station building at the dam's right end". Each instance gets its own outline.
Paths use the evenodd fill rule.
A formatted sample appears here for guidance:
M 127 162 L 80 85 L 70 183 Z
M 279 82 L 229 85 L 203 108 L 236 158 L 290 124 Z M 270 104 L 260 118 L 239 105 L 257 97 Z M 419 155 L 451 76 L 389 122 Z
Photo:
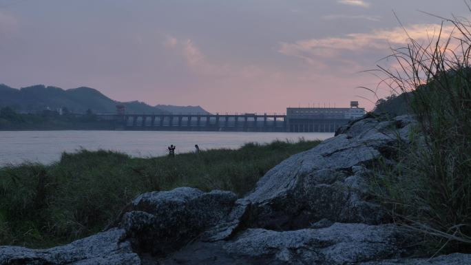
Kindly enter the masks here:
M 350 101 L 350 107 L 289 107 L 286 108 L 286 131 L 333 132 L 365 113 L 358 101 Z

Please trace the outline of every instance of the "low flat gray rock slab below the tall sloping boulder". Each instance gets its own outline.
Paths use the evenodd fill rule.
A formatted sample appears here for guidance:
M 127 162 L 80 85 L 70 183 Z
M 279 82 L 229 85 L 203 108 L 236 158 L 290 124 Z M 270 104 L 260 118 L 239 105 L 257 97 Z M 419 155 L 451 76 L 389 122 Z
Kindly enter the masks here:
M 229 255 L 269 264 L 346 264 L 401 253 L 395 226 L 335 223 L 324 229 L 249 229 L 224 248 Z M 388 240 L 385 240 L 388 239 Z

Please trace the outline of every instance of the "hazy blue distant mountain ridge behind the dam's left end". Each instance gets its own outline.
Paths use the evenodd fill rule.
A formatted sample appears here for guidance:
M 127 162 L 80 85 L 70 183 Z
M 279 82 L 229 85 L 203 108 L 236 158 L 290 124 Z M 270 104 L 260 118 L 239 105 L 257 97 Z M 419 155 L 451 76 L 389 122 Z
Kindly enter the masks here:
M 62 89 L 60 87 L 33 85 L 16 89 L 0 84 L 0 107 L 9 106 L 21 112 L 39 112 L 46 108 L 59 109 L 67 107 L 69 111 L 76 113 L 85 113 L 87 109 L 92 109 L 92 112 L 95 113 L 109 113 L 116 112 L 116 105 L 124 105 L 128 113 L 207 113 L 205 109 L 199 106 L 158 105 L 163 106 L 160 108 L 137 100 L 119 102 L 108 98 L 91 87 Z

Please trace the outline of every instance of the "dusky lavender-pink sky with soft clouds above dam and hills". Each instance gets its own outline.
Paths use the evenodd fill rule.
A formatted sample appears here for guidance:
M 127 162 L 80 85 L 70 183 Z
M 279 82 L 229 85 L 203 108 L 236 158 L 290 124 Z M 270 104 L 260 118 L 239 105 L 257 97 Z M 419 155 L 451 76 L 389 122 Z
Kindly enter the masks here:
M 372 109 L 407 36 L 426 40 L 463 0 L 0 0 L 0 83 L 94 87 L 120 101 L 209 112 Z M 395 14 L 397 14 L 397 18 Z

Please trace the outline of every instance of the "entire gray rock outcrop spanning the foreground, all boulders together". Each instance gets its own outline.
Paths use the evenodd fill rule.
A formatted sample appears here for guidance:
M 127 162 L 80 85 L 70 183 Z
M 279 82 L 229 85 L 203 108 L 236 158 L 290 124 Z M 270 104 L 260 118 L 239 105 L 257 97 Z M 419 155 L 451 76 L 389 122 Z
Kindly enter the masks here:
M 357 120 L 286 159 L 237 199 L 198 189 L 138 196 L 111 229 L 48 250 L 0 247 L 0 264 L 471 264 L 471 255 L 406 259 L 415 235 L 370 200 L 414 120 Z

